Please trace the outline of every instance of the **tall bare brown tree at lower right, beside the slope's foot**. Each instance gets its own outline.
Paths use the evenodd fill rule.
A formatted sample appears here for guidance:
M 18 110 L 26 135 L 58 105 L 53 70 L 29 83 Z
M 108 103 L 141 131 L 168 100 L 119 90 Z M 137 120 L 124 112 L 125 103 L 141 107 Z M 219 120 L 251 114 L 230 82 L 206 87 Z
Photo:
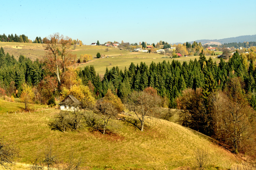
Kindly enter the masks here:
M 255 133 L 255 131 L 251 131 L 251 123 L 254 123 L 252 120 L 254 111 L 246 100 L 239 78 L 230 79 L 224 94 L 223 130 L 226 141 L 237 153 L 241 149 L 243 141 Z

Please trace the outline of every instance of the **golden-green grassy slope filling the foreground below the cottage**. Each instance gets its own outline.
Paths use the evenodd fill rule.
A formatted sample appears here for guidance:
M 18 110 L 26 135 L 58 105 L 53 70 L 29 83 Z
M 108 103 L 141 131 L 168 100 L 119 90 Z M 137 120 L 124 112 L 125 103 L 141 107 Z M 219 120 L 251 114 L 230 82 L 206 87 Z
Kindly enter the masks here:
M 68 159 L 71 149 L 83 158 L 83 167 L 92 169 L 175 169 L 195 166 L 194 151 L 209 151 L 209 169 L 228 169 L 237 158 L 212 143 L 205 135 L 166 120 L 152 119 L 141 132 L 124 120 L 111 120 L 113 133 L 59 132 L 51 130 L 49 122 L 59 110 L 37 113 L 0 114 L 0 136 L 16 142 L 19 157 L 16 169 L 30 164 L 39 152 L 52 144 L 55 155 Z M 132 116 L 119 115 L 126 119 Z M 25 163 L 25 164 L 24 164 Z M 26 167 L 26 166 L 25 166 Z

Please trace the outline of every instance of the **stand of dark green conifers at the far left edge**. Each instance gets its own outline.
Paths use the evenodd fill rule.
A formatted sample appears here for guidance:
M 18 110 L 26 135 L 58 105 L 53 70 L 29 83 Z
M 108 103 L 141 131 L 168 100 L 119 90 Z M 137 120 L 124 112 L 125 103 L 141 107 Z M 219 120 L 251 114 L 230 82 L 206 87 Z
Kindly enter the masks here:
M 13 55 L 0 50 L 0 86 L 8 96 L 19 97 L 22 85 L 26 82 L 36 85 L 43 80 L 43 64 L 36 60 L 32 62 L 24 55 L 20 55 L 18 61 Z M 17 90 L 17 91 L 16 91 Z

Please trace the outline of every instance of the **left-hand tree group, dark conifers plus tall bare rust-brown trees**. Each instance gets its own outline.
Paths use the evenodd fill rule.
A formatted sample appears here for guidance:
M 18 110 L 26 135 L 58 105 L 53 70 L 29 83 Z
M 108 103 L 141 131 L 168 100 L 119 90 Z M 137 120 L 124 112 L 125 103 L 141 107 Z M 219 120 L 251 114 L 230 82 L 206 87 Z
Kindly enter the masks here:
M 47 54 L 42 61 L 32 62 L 23 55 L 17 61 L 1 48 L 0 86 L 5 95 L 22 97 L 23 90 L 30 89 L 34 94 L 33 101 L 48 103 L 52 96 L 59 95 L 59 89 L 78 83 L 77 72 L 69 68 L 76 58 L 69 50 L 69 38 L 54 34 L 50 39 L 45 42 Z M 25 88 L 25 85 L 31 88 Z

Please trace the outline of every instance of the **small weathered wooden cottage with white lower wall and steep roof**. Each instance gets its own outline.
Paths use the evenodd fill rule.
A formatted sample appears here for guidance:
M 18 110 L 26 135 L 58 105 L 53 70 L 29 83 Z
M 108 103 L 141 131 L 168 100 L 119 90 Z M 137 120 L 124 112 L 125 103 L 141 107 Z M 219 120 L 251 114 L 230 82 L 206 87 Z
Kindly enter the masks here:
M 73 95 L 69 94 L 65 99 L 59 102 L 61 111 L 74 111 L 81 102 L 77 100 Z

